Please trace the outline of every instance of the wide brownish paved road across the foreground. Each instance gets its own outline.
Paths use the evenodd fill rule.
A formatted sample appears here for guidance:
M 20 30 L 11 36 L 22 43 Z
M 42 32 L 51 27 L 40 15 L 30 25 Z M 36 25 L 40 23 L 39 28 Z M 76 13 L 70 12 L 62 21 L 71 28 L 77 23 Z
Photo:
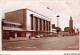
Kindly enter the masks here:
M 3 50 L 78 50 L 79 36 L 47 37 L 2 43 Z

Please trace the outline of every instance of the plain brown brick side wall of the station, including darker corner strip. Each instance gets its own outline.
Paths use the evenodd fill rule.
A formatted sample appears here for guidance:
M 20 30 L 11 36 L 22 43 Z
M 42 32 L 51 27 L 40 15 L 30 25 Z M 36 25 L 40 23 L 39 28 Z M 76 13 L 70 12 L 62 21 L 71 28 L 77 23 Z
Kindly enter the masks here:
M 5 20 L 14 23 L 21 23 L 23 29 L 26 30 L 26 9 L 5 13 Z

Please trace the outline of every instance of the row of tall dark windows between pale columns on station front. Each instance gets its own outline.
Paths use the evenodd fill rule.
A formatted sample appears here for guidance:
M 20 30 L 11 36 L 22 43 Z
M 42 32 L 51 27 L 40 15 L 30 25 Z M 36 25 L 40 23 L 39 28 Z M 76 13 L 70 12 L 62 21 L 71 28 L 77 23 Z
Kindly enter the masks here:
M 30 14 L 31 30 L 35 31 L 50 31 L 50 21 L 46 21 L 40 17 Z

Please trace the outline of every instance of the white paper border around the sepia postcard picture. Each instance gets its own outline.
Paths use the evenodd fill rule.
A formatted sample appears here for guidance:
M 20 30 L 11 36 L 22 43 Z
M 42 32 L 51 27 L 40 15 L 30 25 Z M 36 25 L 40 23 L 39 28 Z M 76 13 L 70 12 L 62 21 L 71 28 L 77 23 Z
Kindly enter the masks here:
M 2 1 L 2 0 L 1 0 Z M 1 1 L 0 1 L 0 4 L 1 4 Z M 6 0 L 6 1 L 10 1 L 10 0 Z M 12 1 L 12 0 L 11 0 Z M 18 0 L 19 1 L 19 0 Z M 29 0 L 28 0 L 29 1 Z M 32 1 L 32 0 L 30 0 Z M 48 1 L 48 0 L 35 0 L 35 1 Z M 58 1 L 64 1 L 64 0 L 58 0 Z M 79 0 L 79 3 L 80 3 L 80 0 Z M 1 7 L 1 6 L 0 6 Z M 79 7 L 80 8 L 80 7 Z M 1 11 L 2 9 L 0 9 Z M 80 13 L 80 11 L 79 11 Z M 2 16 L 2 11 L 0 12 L 0 21 L 1 21 L 1 16 Z M 79 19 L 80 21 L 80 19 Z M 80 27 L 80 24 L 79 24 L 79 27 Z M 80 29 L 79 29 L 80 30 Z M 1 46 L 2 46 L 2 34 L 1 34 L 1 22 L 0 22 L 0 54 L 33 54 L 33 55 L 37 55 L 37 54 L 54 54 L 54 55 L 60 55 L 60 54 L 64 54 L 64 53 L 79 53 L 79 51 L 77 50 L 53 50 L 53 51 L 2 51 L 1 50 Z M 80 39 L 80 35 L 79 35 L 79 39 Z M 79 40 L 79 43 L 80 43 L 80 40 Z M 80 49 L 80 44 L 79 44 L 79 49 Z

